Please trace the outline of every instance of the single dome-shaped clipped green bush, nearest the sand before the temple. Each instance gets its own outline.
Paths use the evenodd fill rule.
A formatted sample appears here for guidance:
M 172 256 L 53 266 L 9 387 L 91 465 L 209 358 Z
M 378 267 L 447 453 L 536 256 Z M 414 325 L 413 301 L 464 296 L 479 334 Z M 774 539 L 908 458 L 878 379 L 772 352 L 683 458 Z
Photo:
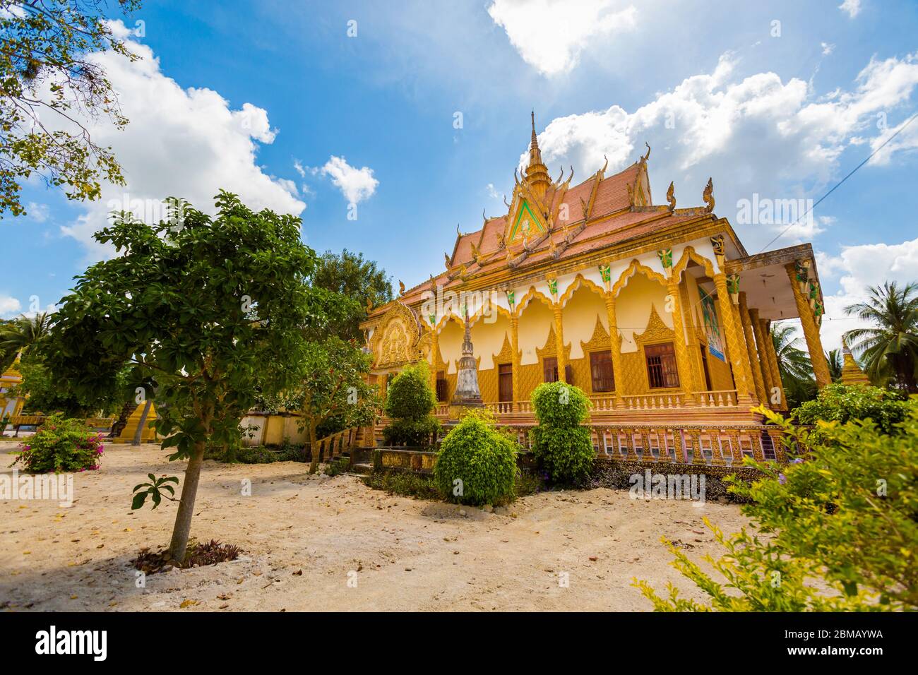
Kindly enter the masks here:
M 468 412 L 440 445 L 433 477 L 447 501 L 493 504 L 513 497 L 518 446 L 487 412 Z

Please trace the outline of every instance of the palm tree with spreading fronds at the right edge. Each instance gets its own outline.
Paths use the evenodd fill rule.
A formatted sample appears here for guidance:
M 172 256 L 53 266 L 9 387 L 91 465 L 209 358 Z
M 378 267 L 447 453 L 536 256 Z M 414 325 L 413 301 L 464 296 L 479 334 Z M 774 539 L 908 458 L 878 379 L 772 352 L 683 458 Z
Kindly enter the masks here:
M 845 333 L 845 343 L 862 356 L 873 382 L 894 379 L 910 394 L 918 393 L 918 283 L 899 287 L 895 281 L 870 287 L 869 297 L 845 308 L 876 328 Z

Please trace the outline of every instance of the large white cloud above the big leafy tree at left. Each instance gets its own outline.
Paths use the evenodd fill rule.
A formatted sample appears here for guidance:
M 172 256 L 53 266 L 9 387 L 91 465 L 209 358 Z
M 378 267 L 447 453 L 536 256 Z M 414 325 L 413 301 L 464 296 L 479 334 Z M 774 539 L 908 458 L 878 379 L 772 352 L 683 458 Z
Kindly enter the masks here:
M 117 23 L 115 28 L 117 35 L 129 37 L 127 28 Z M 103 186 L 101 199 L 62 227 L 87 247 L 89 259 L 113 253 L 92 235 L 106 225 L 107 213 L 121 205 L 140 210 L 140 217 L 158 217 L 156 207 L 164 197 L 183 197 L 212 211 L 213 197 L 225 188 L 254 209 L 299 215 L 306 208 L 291 181 L 265 174 L 256 162 L 258 143 L 271 143 L 277 135 L 267 111 L 251 103 L 231 109 L 211 89 L 184 89 L 162 73 L 149 47 L 130 42 L 129 48 L 142 59 L 131 63 L 111 52 L 89 57 L 106 69 L 130 120 L 122 131 L 107 120 L 88 123 L 93 140 L 112 147 L 128 181 L 125 187 Z

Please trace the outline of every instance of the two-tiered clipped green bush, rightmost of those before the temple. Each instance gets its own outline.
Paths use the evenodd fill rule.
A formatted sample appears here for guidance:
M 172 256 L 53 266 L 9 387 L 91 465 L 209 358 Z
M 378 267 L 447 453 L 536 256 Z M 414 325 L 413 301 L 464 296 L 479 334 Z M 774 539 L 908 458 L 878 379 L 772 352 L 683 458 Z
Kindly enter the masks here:
M 588 427 L 589 399 L 577 387 L 546 382 L 532 392 L 539 425 L 532 429 L 532 456 L 555 483 L 580 483 L 588 478 L 596 452 Z

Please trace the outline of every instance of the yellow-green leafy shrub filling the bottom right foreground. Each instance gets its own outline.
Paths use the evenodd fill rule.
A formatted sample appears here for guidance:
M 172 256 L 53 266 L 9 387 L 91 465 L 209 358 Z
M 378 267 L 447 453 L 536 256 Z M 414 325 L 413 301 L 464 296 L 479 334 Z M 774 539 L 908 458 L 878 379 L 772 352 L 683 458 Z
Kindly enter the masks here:
M 872 420 L 820 422 L 816 434 L 758 411 L 790 447 L 807 448 L 785 467 L 746 459 L 765 478 L 733 481 L 731 490 L 750 500 L 744 515 L 767 536 L 724 537 L 708 523 L 727 550 L 706 559 L 726 583 L 670 545 L 674 566 L 709 604 L 678 598 L 672 585 L 666 598 L 645 581 L 635 585 L 662 611 L 918 609 L 918 399 L 890 434 Z

